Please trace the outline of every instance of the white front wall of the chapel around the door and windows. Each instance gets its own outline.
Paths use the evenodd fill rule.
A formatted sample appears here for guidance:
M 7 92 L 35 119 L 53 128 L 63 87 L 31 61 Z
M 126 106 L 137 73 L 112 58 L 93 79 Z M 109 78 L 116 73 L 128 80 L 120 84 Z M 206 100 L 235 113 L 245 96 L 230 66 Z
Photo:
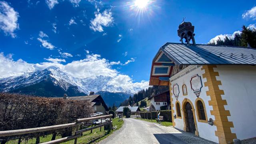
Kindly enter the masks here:
M 204 74 L 204 70 L 201 70 L 201 68 L 202 68 L 202 66 L 199 66 L 199 67 L 198 66 L 188 66 L 184 70 L 180 71 L 178 74 L 175 74 L 174 76 L 172 76 L 170 78 L 170 82 L 171 82 L 172 86 L 174 84 L 178 84 L 178 86 L 179 86 L 180 93 L 179 93 L 178 101 L 180 102 L 180 108 L 182 109 L 182 101 L 184 100 L 184 98 L 189 99 L 193 103 L 194 108 L 196 108 L 195 100 L 197 97 L 194 94 L 194 92 L 191 90 L 190 79 L 192 76 L 194 76 L 196 74 L 201 76 L 203 87 L 201 89 L 201 94 L 200 94 L 199 98 L 202 98 L 204 100 L 208 120 L 209 120 L 209 118 L 212 118 L 214 120 L 215 119 L 214 116 L 210 114 L 210 110 L 213 110 L 213 109 L 212 109 L 212 106 L 209 106 L 209 104 L 208 104 L 208 101 L 210 100 L 210 96 L 206 96 L 206 91 L 208 90 L 208 87 L 204 87 L 204 82 L 206 82 L 206 78 L 202 77 L 202 74 Z M 180 78 L 177 78 L 178 76 L 180 76 Z M 183 84 L 186 84 L 186 86 L 187 86 L 187 92 L 188 92 L 187 96 L 183 96 L 183 94 L 182 94 L 182 85 Z M 174 97 L 174 95 L 172 95 L 172 98 L 173 98 L 173 104 L 174 104 L 174 107 L 173 107 L 174 114 L 176 114 L 176 98 Z M 176 123 L 175 128 L 183 130 L 184 129 L 184 121 L 183 121 L 182 111 L 181 111 L 181 115 L 182 115 L 182 119 L 176 118 L 176 119 L 174 119 L 174 122 Z M 177 116 L 177 114 L 176 114 L 176 116 Z M 197 115 L 194 119 L 196 119 L 200 137 L 205 138 L 207 140 L 214 141 L 214 142 L 218 142 L 218 137 L 215 136 L 215 130 L 217 130 L 216 126 L 211 126 L 210 124 L 207 124 L 204 122 L 198 122 Z

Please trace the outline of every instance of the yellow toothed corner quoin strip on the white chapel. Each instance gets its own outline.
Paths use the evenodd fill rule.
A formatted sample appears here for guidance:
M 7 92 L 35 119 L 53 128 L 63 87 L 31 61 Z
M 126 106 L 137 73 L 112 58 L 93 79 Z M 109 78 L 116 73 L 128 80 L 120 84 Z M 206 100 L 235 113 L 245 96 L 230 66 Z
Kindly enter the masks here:
M 214 72 L 213 68 L 217 68 L 216 65 L 204 65 L 201 70 L 204 70 L 203 78 L 206 78 L 204 86 L 208 86 L 206 95 L 210 96 L 211 100 L 208 101 L 212 106 L 211 114 L 214 115 L 214 126 L 217 127 L 215 135 L 218 136 L 220 144 L 233 143 L 233 139 L 236 138 L 236 134 L 231 132 L 230 128 L 234 128 L 233 122 L 228 121 L 230 115 L 229 110 L 225 110 L 224 105 L 228 105 L 226 100 L 222 99 L 221 95 L 224 95 L 224 90 L 220 90 L 220 80 L 216 80 L 216 76 L 219 76 L 218 72 Z

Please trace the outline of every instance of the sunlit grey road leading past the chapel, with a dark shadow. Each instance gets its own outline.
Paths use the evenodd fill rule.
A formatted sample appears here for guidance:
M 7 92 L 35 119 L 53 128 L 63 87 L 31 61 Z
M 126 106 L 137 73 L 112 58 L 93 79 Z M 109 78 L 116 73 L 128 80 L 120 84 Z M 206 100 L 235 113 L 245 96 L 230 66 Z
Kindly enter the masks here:
M 124 125 L 100 144 L 187 144 L 152 122 L 124 118 Z

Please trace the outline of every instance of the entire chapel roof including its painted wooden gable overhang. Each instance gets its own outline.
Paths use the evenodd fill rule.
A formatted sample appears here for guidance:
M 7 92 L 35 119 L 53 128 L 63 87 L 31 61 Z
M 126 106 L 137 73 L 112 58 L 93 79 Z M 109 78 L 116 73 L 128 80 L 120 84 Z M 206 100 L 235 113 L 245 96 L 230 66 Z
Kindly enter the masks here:
M 152 62 L 149 85 L 168 86 L 175 65 L 256 65 L 256 48 L 166 43 Z

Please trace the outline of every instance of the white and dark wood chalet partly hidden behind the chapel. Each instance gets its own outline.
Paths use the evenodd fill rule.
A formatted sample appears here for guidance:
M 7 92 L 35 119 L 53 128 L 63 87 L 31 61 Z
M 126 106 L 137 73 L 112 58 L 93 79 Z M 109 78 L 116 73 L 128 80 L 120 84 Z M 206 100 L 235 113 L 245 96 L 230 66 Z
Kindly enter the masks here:
M 154 107 L 155 110 L 161 110 L 160 107 L 166 106 L 166 110 L 170 110 L 170 90 L 156 94 L 148 98 L 150 104 Z

